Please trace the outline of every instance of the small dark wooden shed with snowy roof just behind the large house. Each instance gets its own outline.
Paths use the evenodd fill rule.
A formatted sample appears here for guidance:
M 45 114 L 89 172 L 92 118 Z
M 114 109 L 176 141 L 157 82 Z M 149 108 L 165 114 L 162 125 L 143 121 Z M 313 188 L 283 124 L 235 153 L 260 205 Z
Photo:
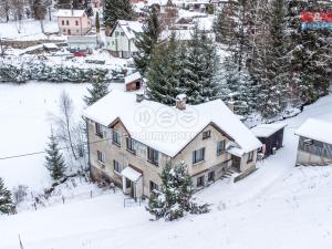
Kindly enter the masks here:
M 276 153 L 283 145 L 283 131 L 287 124 L 260 124 L 251 132 L 262 143 L 261 152 L 264 157 Z

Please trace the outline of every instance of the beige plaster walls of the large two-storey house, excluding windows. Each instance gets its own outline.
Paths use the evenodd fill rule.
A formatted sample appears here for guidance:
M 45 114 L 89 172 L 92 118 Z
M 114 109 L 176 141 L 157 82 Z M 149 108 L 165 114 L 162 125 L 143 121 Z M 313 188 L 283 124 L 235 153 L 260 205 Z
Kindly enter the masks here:
M 102 139 L 95 135 L 94 122 L 89 123 L 89 139 L 90 143 L 94 141 Z M 209 185 L 208 174 L 215 172 L 215 180 L 220 178 L 225 170 L 231 167 L 231 155 L 229 153 L 222 153 L 217 155 L 217 142 L 226 141 L 229 142 L 229 138 L 222 135 L 214 125 L 208 125 L 204 131 L 201 131 L 193 141 L 174 158 L 170 158 L 167 155 L 159 153 L 158 166 L 149 163 L 147 160 L 147 146 L 137 142 L 136 153 L 126 149 L 126 139 L 128 135 L 125 127 L 121 122 L 114 125 L 114 131 L 122 134 L 121 146 L 112 144 L 112 141 L 92 143 L 90 145 L 90 162 L 91 162 L 91 173 L 94 179 L 100 179 L 106 175 L 116 185 L 122 186 L 122 177 L 120 174 L 113 169 L 113 159 L 117 160 L 124 167 L 132 166 L 133 168 L 138 169 L 143 174 L 143 195 L 149 197 L 149 181 L 154 181 L 160 186 L 160 177 L 163 168 L 167 163 L 172 165 L 179 164 L 181 160 L 185 160 L 188 165 L 188 173 L 193 177 L 194 187 L 197 187 L 197 178 L 204 176 L 204 186 Z M 210 137 L 203 139 L 203 133 L 210 131 Z M 111 129 L 107 132 L 107 137 L 111 137 Z M 105 137 L 103 138 L 105 139 Z M 205 160 L 193 164 L 193 152 L 205 147 Z M 102 165 L 97 162 L 97 151 L 106 154 L 105 165 Z M 245 154 L 241 159 L 240 169 L 241 172 L 247 172 L 255 168 L 257 151 L 255 151 L 253 160 L 247 162 L 248 154 Z

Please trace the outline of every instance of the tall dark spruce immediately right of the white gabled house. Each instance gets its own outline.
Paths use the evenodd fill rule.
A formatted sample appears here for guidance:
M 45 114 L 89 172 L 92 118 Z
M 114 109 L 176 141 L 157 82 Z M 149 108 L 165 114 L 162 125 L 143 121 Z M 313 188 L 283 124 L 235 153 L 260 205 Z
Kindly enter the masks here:
M 160 23 L 156 8 L 148 12 L 146 23 L 143 25 L 143 33 L 137 34 L 135 45 L 138 53 L 134 55 L 136 69 L 142 75 L 145 75 L 154 48 L 158 43 L 160 34 Z

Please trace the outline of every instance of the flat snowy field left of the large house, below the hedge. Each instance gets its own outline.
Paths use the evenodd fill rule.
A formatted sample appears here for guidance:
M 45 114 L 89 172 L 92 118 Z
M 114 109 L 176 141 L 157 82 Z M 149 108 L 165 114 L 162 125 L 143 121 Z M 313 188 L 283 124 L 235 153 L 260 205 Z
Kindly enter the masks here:
M 0 157 L 44 151 L 52 125 L 50 114 L 59 114 L 62 91 L 69 93 L 80 115 L 87 86 L 42 82 L 0 84 Z M 124 84 L 110 87 L 123 89 Z M 9 188 L 28 185 L 31 190 L 41 190 L 51 180 L 43 164 L 43 154 L 0 160 L 0 177 Z

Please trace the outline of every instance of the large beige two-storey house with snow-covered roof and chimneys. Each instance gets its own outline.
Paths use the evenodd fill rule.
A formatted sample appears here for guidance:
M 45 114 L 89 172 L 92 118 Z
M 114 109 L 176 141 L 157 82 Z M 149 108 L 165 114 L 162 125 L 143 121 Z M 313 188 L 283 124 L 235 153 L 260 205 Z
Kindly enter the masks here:
M 166 164 L 183 160 L 196 189 L 230 169 L 248 175 L 261 147 L 221 100 L 188 105 L 178 96 L 176 106 L 166 106 L 142 93 L 112 91 L 83 116 L 91 175 L 112 180 L 133 197 L 148 197 L 159 188 Z

